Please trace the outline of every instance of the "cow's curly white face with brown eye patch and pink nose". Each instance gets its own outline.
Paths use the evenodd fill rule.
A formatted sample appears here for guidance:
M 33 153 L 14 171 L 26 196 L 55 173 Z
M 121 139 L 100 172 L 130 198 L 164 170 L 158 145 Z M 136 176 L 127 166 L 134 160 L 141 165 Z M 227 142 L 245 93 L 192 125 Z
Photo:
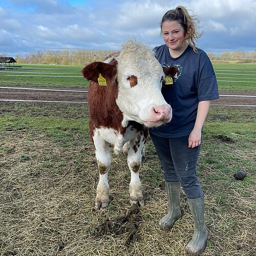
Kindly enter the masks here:
M 172 108 L 161 93 L 163 69 L 154 53 L 145 46 L 123 47 L 117 57 L 119 84 L 117 105 L 125 126 L 135 120 L 148 127 L 159 126 L 172 119 Z

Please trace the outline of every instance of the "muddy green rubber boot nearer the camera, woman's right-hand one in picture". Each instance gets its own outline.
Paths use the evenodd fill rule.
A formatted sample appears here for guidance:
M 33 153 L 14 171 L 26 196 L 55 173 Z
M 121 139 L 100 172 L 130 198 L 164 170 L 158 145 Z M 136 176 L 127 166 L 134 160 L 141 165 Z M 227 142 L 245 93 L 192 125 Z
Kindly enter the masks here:
M 187 200 L 194 219 L 195 231 L 193 238 L 186 247 L 186 252 L 198 255 L 204 251 L 208 239 L 204 218 L 204 197 Z

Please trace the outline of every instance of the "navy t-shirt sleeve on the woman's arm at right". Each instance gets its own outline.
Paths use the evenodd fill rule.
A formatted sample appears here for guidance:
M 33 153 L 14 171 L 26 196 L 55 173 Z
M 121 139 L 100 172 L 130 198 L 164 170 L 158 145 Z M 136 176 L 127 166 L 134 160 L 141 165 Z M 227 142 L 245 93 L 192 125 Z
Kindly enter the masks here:
M 204 56 L 201 63 L 202 65 L 200 67 L 197 86 L 198 99 L 199 101 L 218 99 L 218 83 L 214 72 L 214 67 L 212 67 L 210 59 L 207 55 Z

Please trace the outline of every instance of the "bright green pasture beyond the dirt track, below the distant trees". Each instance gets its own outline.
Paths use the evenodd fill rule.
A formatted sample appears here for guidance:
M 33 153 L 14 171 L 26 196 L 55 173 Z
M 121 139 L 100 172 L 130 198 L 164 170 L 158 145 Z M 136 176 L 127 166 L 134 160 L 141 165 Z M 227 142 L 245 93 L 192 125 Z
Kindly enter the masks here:
M 214 63 L 221 93 L 256 94 L 256 63 Z M 87 89 L 83 66 L 20 64 L 22 69 L 0 70 L 2 86 Z

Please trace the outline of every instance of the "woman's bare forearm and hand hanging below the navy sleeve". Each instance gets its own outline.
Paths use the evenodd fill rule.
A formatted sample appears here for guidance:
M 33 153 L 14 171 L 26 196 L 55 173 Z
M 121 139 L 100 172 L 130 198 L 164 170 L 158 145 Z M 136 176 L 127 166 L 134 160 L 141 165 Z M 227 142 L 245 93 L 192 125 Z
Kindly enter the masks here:
M 202 127 L 210 107 L 210 100 L 200 101 L 197 109 L 197 119 L 194 129 L 188 137 L 188 147 L 196 147 L 201 144 Z

